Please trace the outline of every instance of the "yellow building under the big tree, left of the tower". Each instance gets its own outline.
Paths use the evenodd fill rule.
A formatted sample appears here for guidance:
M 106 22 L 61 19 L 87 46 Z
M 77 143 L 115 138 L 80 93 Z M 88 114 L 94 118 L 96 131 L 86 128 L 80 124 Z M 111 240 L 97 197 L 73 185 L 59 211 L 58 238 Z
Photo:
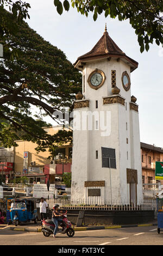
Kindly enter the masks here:
M 54 135 L 61 126 L 44 127 L 48 134 Z M 53 161 L 48 149 L 45 152 L 35 150 L 36 143 L 28 141 L 16 141 L 14 148 L 14 173 L 16 177 L 27 176 L 29 183 L 45 183 L 55 181 L 56 176 L 63 172 L 71 172 L 72 145 L 62 145 L 57 149 L 57 156 Z M 49 160 L 48 157 L 51 156 Z M 64 164 L 65 163 L 65 164 Z M 63 166 L 64 165 L 64 166 Z

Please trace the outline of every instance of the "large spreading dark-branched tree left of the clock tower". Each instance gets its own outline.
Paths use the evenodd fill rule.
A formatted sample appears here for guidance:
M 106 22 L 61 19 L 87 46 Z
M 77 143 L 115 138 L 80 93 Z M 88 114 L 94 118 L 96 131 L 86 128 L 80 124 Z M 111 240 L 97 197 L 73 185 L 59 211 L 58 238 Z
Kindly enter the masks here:
M 43 40 L 26 22 L 17 28 L 16 35 L 4 35 L 0 40 L 4 46 L 4 58 L 0 59 L 0 118 L 8 121 L 0 125 L 0 144 L 11 147 L 16 145 L 15 140 L 26 139 L 38 143 L 38 150 L 45 150 L 55 141 L 67 143 L 70 132 L 48 135 L 35 119 L 48 115 L 58 121 L 53 112 L 72 107 L 82 75 L 61 50 Z M 10 47 L 18 50 L 17 58 L 10 58 Z M 33 107 L 37 108 L 35 115 Z

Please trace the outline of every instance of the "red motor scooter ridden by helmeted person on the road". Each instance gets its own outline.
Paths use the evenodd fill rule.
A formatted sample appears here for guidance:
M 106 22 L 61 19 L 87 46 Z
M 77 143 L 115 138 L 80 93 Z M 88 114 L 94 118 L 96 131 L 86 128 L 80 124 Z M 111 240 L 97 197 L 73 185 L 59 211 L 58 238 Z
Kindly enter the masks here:
M 67 236 L 72 237 L 74 236 L 74 229 L 70 221 L 67 220 L 67 211 L 65 214 L 62 214 L 62 222 L 60 224 L 61 229 L 58 228 L 58 231 L 61 234 L 67 234 Z M 55 224 L 52 220 L 43 220 L 42 221 L 42 232 L 44 236 L 49 236 L 54 233 Z

